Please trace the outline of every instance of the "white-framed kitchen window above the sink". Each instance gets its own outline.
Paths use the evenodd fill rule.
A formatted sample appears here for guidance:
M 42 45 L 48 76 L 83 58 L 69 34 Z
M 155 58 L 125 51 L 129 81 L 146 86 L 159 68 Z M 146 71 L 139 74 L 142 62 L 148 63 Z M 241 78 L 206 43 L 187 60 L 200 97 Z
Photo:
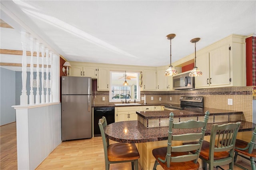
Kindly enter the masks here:
M 110 102 L 136 102 L 140 101 L 140 72 L 132 71 L 110 71 Z M 124 81 L 127 81 L 128 86 L 124 86 Z

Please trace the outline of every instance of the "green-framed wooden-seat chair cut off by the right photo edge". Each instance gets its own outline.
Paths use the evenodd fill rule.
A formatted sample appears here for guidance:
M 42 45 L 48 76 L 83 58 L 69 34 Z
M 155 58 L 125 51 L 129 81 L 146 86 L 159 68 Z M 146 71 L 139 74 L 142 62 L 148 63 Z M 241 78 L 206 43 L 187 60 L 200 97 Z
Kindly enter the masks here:
M 254 158 L 256 158 L 256 145 L 255 145 L 255 142 L 256 142 L 256 127 L 254 128 L 254 132 L 252 133 L 252 139 L 251 141 L 248 143 L 248 142 L 245 142 L 243 140 L 240 140 L 240 139 L 237 139 L 236 140 L 236 146 L 235 146 L 235 157 L 234 157 L 234 164 L 244 170 L 247 170 L 246 168 L 244 168 L 243 166 L 239 165 L 236 163 L 236 158 L 237 156 L 241 156 L 242 158 L 245 158 L 247 160 L 250 160 L 251 162 L 251 167 L 252 167 L 252 170 L 256 170 L 255 168 L 255 161 L 254 161 Z M 243 155 L 241 155 L 243 154 Z M 245 157 L 245 156 L 249 156 L 250 158 L 248 157 Z

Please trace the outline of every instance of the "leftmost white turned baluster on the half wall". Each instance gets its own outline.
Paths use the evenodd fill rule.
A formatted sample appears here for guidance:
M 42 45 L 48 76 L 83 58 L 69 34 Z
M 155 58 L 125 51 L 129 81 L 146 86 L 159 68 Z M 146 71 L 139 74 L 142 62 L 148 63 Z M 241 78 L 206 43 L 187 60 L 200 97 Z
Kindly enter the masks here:
M 20 105 L 28 105 L 28 95 L 26 90 L 26 80 L 27 80 L 27 42 L 26 42 L 26 32 L 21 33 L 21 43 L 22 43 L 22 90 L 20 96 Z

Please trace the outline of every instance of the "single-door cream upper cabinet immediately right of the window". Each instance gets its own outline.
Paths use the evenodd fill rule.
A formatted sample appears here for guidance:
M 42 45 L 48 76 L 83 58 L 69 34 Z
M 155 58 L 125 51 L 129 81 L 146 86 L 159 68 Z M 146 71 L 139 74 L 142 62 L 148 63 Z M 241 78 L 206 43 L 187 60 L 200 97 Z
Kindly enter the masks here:
M 142 78 L 143 90 L 156 90 L 156 70 L 144 70 Z

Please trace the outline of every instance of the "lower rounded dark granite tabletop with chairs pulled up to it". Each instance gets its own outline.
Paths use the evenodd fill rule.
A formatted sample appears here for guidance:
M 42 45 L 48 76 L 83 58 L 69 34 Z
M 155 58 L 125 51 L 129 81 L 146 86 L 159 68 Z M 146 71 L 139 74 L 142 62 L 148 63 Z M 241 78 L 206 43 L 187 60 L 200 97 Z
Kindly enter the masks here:
M 205 135 L 210 135 L 212 124 L 225 124 L 230 122 L 208 123 Z M 234 121 L 232 123 L 235 123 Z M 239 132 L 253 131 L 256 124 L 252 122 L 241 121 Z M 168 126 L 146 128 L 137 120 L 115 122 L 105 128 L 105 133 L 110 140 L 124 143 L 143 143 L 154 142 L 168 139 Z M 193 133 L 198 129 L 178 130 L 173 134 Z

